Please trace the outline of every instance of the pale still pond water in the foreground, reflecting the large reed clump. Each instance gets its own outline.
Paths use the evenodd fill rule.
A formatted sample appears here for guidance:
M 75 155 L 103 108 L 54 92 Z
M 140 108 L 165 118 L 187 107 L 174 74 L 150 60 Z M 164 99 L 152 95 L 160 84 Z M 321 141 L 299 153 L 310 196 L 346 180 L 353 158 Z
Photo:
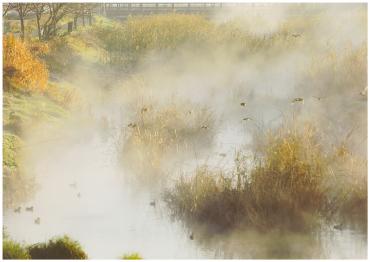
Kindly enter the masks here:
M 124 171 L 115 163 L 116 138 L 101 136 L 93 127 L 75 133 L 69 130 L 64 140 L 42 145 L 33 155 L 40 190 L 24 205 L 34 206 L 33 212 L 24 208 L 20 214 L 5 211 L 4 225 L 12 238 L 35 243 L 68 234 L 82 244 L 90 258 L 118 258 L 127 252 L 139 252 L 144 258 L 367 255 L 366 235 L 353 230 L 311 235 L 240 231 L 211 238 L 195 231 L 191 240 L 190 229 L 169 218 L 158 193 L 139 191 L 127 183 Z M 216 138 L 216 152 L 227 153 L 231 161 L 232 147 L 227 144 L 246 142 L 242 133 L 225 128 L 224 136 Z M 36 217 L 41 218 L 40 225 L 34 223 Z

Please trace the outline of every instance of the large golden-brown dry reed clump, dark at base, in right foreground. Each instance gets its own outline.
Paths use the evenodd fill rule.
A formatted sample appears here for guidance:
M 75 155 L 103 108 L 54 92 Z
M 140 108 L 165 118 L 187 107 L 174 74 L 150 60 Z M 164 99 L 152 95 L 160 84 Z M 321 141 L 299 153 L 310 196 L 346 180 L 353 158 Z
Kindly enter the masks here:
M 309 230 L 353 210 L 366 221 L 366 169 L 355 171 L 311 125 L 272 131 L 254 150 L 239 153 L 232 172 L 201 167 L 181 178 L 165 194 L 174 215 L 216 230 Z

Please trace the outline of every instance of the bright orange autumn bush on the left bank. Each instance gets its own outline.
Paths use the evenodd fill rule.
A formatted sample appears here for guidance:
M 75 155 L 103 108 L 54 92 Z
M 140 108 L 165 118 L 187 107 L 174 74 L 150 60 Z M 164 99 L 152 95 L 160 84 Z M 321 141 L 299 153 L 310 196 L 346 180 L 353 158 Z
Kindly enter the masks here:
M 43 91 L 46 88 L 48 70 L 37 56 L 40 52 L 47 52 L 47 46 L 36 47 L 10 34 L 3 38 L 3 50 L 4 81 L 11 81 L 26 91 Z

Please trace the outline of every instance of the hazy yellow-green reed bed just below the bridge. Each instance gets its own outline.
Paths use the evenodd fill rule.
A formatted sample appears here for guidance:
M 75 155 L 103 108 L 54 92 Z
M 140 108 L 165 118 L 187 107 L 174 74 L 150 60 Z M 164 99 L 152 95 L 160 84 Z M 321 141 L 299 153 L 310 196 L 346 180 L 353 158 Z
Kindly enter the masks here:
M 203 53 L 225 47 L 239 49 L 240 56 L 276 44 L 292 46 L 295 42 L 287 38 L 286 30 L 266 38 L 249 32 L 238 21 L 217 24 L 201 15 L 161 14 L 129 17 L 121 24 L 98 23 L 92 32 L 101 40 L 109 63 L 132 69 L 153 52 L 176 54 L 189 48 Z

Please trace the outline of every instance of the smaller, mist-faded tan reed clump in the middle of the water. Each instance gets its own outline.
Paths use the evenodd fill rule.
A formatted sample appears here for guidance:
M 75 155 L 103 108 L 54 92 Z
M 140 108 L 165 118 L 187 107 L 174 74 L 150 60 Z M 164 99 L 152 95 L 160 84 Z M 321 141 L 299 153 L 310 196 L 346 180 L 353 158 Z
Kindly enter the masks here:
M 207 108 L 186 103 L 142 106 L 124 128 L 122 159 L 137 178 L 154 182 L 192 150 L 209 147 L 214 121 Z

